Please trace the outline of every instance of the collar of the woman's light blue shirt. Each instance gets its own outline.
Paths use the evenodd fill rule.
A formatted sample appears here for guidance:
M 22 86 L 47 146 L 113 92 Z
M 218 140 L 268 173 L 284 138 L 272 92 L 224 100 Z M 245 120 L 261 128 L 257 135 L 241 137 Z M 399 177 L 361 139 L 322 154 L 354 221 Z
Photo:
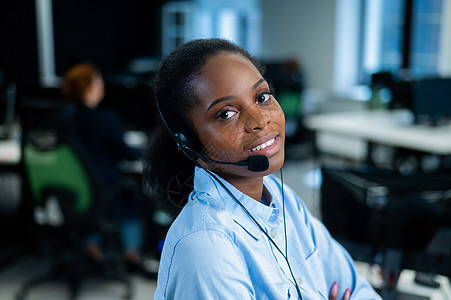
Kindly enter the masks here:
M 249 211 L 249 213 L 260 223 L 262 227 L 274 227 L 279 222 L 279 208 L 276 202 L 271 187 L 266 184 L 266 178 L 264 178 L 265 189 L 268 192 L 267 199 L 272 199 L 271 204 L 266 206 L 258 201 L 255 201 L 251 197 L 245 195 L 233 185 L 228 183 L 216 174 L 209 174 L 202 168 L 196 167 L 194 176 L 194 191 L 204 194 L 197 199 L 205 199 L 208 205 L 224 207 L 229 210 L 233 216 L 235 222 L 242 226 L 247 232 L 249 232 L 254 238 L 258 239 L 262 232 L 260 228 L 249 217 L 246 211 L 230 196 L 230 194 L 224 189 L 224 187 L 218 183 L 215 176 L 221 183 L 236 197 L 236 199 Z

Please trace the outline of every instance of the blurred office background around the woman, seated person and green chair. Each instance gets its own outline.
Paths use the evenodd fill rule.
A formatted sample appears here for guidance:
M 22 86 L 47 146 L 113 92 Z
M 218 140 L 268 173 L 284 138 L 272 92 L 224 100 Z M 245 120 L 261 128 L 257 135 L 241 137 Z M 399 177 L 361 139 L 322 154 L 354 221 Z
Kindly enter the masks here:
M 267 65 L 287 116 L 285 182 L 384 299 L 451 299 L 449 0 L 2 1 L 0 298 L 14 299 L 52 259 L 31 229 L 26 108 L 55 108 L 65 71 L 92 62 L 105 80 L 101 107 L 121 118 L 131 146 L 145 148 L 159 63 L 176 45 L 209 37 L 230 39 Z M 124 168 L 140 176 L 140 162 Z M 171 216 L 148 214 L 154 266 Z M 155 280 L 131 280 L 134 299 L 152 297 Z M 79 296 L 122 293 L 89 281 Z M 54 282 L 28 294 L 67 296 Z

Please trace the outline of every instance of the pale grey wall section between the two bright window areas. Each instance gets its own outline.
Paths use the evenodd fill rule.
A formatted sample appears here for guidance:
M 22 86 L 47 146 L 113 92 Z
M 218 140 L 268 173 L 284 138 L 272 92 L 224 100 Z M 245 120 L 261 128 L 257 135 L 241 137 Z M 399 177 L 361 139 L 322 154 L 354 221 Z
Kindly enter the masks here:
M 261 0 L 262 59 L 299 59 L 309 88 L 332 91 L 335 0 Z

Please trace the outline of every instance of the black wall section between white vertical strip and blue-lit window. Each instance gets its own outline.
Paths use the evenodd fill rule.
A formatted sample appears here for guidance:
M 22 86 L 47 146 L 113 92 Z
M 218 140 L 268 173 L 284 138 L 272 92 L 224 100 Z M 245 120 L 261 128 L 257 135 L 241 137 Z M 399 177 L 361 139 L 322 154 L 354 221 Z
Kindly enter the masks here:
M 57 75 L 78 61 L 91 61 L 110 75 L 123 72 L 132 58 L 160 55 L 163 2 L 54 0 Z

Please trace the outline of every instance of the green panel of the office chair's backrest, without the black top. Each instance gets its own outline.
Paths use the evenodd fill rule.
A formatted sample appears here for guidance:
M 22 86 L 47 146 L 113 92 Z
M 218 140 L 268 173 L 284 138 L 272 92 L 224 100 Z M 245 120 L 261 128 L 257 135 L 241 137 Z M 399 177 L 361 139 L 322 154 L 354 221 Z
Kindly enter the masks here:
M 30 131 L 23 146 L 35 221 L 87 229 L 94 223 L 95 184 L 74 144 L 59 138 L 52 131 Z

